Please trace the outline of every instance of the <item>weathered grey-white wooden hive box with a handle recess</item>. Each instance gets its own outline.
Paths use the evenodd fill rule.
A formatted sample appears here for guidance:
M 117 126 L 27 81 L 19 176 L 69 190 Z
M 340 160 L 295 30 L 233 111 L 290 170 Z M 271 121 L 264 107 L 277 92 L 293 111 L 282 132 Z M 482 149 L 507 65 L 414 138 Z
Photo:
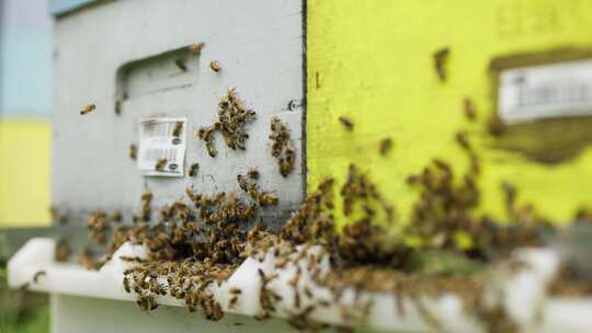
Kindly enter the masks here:
M 189 186 L 240 192 L 237 174 L 257 168 L 261 187 L 280 197 L 278 206 L 263 211 L 265 221 L 285 218 L 305 190 L 301 1 L 87 2 L 55 21 L 54 206 L 75 221 L 94 209 L 121 210 L 129 219 L 143 192 L 152 192 L 156 208 Z M 190 54 L 194 43 L 205 43 L 201 53 Z M 221 71 L 209 69 L 213 60 Z M 216 135 L 218 156 L 210 158 L 195 131 L 217 119 L 218 99 L 229 88 L 257 112 L 257 120 L 248 126 L 246 151 L 230 150 Z M 86 104 L 96 110 L 81 116 Z M 287 177 L 270 154 L 272 116 L 288 123 L 294 139 L 296 168 Z M 128 158 L 140 119 L 151 117 L 186 118 L 183 176 L 146 176 Z M 194 162 L 200 171 L 190 177 Z

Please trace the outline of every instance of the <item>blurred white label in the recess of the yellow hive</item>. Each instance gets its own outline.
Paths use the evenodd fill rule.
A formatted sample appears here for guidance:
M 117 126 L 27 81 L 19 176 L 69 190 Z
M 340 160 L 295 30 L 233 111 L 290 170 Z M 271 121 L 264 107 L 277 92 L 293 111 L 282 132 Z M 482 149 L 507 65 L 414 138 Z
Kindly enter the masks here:
M 500 72 L 498 112 L 506 124 L 592 115 L 592 59 Z

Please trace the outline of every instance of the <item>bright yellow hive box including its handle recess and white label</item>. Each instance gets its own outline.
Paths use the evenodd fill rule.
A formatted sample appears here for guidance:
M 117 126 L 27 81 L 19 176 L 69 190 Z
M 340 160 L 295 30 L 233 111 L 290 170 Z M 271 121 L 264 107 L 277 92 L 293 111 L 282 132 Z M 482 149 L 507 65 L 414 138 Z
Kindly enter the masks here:
M 434 158 L 462 173 L 475 156 L 478 210 L 496 220 L 512 220 L 503 184 L 555 222 L 592 206 L 592 3 L 323 0 L 307 10 L 309 188 L 343 181 L 355 163 L 405 222 L 418 198 L 410 174 Z

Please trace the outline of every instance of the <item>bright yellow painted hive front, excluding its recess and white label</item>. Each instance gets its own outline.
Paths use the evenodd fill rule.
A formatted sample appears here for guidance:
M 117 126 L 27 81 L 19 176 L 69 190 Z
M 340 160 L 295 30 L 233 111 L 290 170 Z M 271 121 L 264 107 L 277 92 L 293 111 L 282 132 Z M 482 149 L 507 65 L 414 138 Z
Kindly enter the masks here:
M 468 159 L 454 140 L 467 129 L 483 168 L 481 210 L 506 219 L 502 180 L 519 188 L 519 203 L 565 220 L 592 205 L 592 150 L 545 165 L 490 149 L 483 120 L 492 112 L 488 66 L 492 58 L 556 47 L 592 47 L 589 0 L 322 0 L 308 1 L 307 166 L 309 188 L 320 177 L 343 179 L 354 162 L 369 172 L 405 221 L 417 193 L 405 179 L 434 157 L 463 170 Z M 448 80 L 437 80 L 432 54 L 448 46 Z M 464 96 L 478 123 L 462 113 Z M 353 133 L 338 117 L 355 123 Z M 591 129 L 592 130 L 592 129 Z M 387 157 L 378 141 L 394 139 Z

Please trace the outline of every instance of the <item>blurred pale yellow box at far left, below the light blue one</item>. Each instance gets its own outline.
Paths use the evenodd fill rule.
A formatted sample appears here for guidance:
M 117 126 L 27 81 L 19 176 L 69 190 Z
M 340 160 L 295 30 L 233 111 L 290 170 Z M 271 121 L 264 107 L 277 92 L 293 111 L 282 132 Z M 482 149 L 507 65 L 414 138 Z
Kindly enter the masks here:
M 49 225 L 50 125 L 0 122 L 0 226 Z

